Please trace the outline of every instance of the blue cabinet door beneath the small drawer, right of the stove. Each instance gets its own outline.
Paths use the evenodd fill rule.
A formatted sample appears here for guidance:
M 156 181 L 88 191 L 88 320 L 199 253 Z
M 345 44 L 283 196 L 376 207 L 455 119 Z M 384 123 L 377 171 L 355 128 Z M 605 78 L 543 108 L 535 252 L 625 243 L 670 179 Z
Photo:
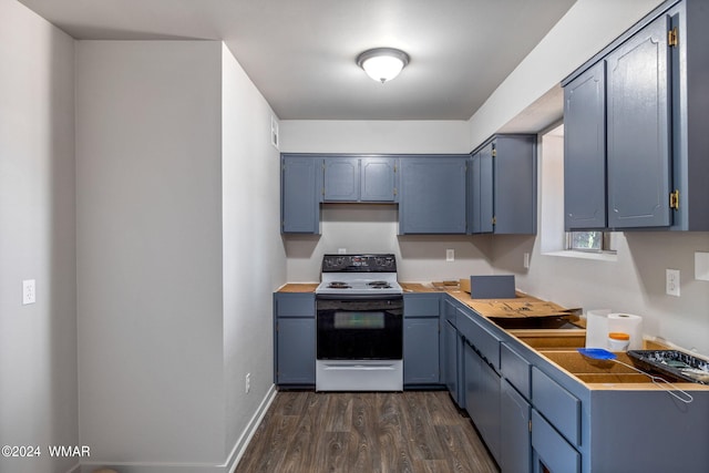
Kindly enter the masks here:
M 439 383 L 439 318 L 404 319 L 403 383 Z

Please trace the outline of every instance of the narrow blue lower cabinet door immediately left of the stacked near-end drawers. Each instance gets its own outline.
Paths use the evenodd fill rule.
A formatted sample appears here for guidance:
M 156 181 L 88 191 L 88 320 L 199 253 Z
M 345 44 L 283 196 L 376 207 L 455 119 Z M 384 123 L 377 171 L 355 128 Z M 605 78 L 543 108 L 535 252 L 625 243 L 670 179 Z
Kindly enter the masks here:
M 500 395 L 500 469 L 502 473 L 532 471 L 530 403 L 510 384 L 502 382 Z

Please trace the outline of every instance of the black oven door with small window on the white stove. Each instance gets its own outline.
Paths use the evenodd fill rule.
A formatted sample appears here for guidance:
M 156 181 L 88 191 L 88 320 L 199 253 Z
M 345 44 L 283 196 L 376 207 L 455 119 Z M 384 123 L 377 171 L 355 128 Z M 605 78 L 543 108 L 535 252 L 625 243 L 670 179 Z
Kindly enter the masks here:
M 316 297 L 318 360 L 401 360 L 403 296 Z

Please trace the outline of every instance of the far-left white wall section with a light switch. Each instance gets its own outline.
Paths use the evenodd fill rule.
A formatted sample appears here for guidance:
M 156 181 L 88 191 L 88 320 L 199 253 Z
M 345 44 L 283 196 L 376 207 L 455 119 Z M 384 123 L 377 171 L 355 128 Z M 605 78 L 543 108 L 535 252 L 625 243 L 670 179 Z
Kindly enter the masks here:
M 73 40 L 0 0 L 0 444 L 40 445 L 0 471 L 66 472 L 79 443 Z M 37 304 L 21 305 L 23 279 Z

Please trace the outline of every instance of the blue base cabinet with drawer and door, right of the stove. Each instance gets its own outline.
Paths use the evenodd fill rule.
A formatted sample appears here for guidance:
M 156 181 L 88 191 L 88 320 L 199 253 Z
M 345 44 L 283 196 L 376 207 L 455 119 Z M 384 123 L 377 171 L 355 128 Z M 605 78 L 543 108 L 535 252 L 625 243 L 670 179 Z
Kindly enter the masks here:
M 405 294 L 403 300 L 403 383 L 404 387 L 438 385 L 439 294 Z

